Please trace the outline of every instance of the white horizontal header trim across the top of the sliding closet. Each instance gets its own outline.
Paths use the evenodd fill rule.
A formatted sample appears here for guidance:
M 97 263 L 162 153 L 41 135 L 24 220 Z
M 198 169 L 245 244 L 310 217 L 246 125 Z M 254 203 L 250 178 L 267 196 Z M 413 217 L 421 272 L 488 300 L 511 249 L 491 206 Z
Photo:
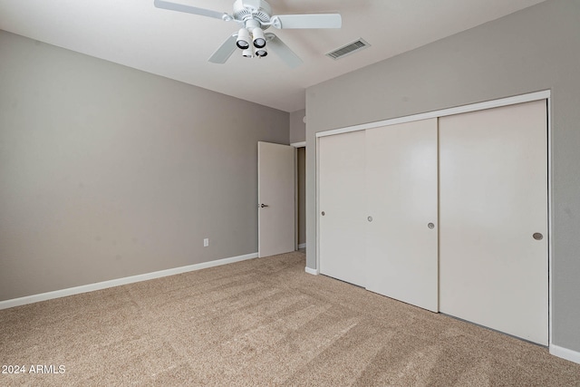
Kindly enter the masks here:
M 450 115 L 456 115 L 461 113 L 466 113 L 469 111 L 483 111 L 486 109 L 498 108 L 501 106 L 515 105 L 517 103 L 532 102 L 539 100 L 546 100 L 550 98 L 550 91 L 546 90 L 543 92 L 530 92 L 528 94 L 517 95 L 514 97 L 502 98 L 499 100 L 487 101 L 473 103 L 470 105 L 458 106 L 455 108 L 443 109 L 440 111 L 428 111 L 420 114 L 412 114 L 410 116 L 394 118 L 390 120 L 375 121 L 369 123 L 363 123 L 361 125 L 348 126 L 339 129 L 333 129 L 332 131 L 319 131 L 316 133 L 316 138 L 333 136 L 334 134 L 348 133 L 350 131 L 364 131 L 366 129 L 379 128 L 381 126 L 396 125 L 399 123 L 427 120 L 431 118 L 440 118 Z

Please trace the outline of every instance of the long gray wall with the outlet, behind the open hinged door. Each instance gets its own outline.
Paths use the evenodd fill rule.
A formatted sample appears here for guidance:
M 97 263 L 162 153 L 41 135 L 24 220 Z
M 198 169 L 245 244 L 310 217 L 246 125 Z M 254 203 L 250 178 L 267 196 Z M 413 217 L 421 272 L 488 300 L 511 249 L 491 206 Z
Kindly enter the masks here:
M 258 140 L 289 114 L 0 32 L 0 300 L 256 253 Z

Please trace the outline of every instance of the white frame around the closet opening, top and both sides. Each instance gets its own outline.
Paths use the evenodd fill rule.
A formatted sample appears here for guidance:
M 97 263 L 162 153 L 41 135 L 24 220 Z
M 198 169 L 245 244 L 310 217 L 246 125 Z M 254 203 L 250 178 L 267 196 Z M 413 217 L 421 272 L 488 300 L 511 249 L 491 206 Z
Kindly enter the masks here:
M 517 103 L 524 103 L 524 102 L 533 102 L 533 101 L 540 101 L 546 100 L 546 113 L 547 113 L 547 260 L 548 260 L 548 348 L 550 353 L 554 354 L 557 349 L 554 348 L 552 343 L 552 217 L 553 217 L 553 152 L 552 152 L 552 98 L 551 98 L 551 90 L 545 90 L 541 92 L 530 92 L 526 94 L 520 94 L 512 97 L 507 98 L 500 98 L 497 100 L 491 100 L 487 102 L 478 102 L 478 103 L 471 103 L 467 105 L 458 106 L 455 108 L 449 109 L 442 109 L 439 111 L 428 111 L 419 114 L 411 114 L 409 116 L 394 118 L 390 120 L 383 120 L 383 121 L 375 121 L 364 123 L 360 125 L 352 125 L 343 128 L 333 129 L 331 131 L 319 131 L 315 133 L 315 146 L 316 146 L 316 166 L 315 166 L 315 173 L 316 173 L 316 269 L 315 270 L 306 270 L 310 274 L 320 274 L 320 198 L 319 198 L 319 165 L 320 165 L 320 152 L 319 152 L 319 139 L 325 136 L 332 136 L 335 134 L 341 133 L 348 133 L 351 131 L 365 131 L 367 129 L 378 128 L 382 126 L 389 126 L 395 125 L 398 123 L 404 122 L 411 122 L 411 121 L 420 121 L 426 120 L 430 118 L 440 118 L 449 115 L 456 115 L 460 113 L 465 113 L 469 111 L 483 111 L 487 109 L 498 108 L 502 106 L 508 105 L 515 105 Z

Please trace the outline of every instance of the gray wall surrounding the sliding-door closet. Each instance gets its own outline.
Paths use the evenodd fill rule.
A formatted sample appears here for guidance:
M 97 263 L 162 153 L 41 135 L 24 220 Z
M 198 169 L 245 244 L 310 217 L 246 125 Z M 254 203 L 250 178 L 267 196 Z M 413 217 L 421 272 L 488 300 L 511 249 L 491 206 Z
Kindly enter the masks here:
M 306 91 L 315 133 L 551 89 L 553 343 L 580 351 L 580 2 L 549 0 Z M 348 92 L 347 92 L 348 91 Z M 315 261 L 315 163 L 307 162 L 307 266 Z

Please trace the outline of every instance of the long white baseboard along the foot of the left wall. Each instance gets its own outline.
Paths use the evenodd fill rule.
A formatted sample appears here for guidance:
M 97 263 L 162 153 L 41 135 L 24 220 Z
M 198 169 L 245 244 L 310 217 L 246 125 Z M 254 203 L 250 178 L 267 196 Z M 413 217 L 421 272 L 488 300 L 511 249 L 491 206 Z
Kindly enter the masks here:
M 65 297 L 67 295 L 79 295 L 81 293 L 93 292 L 95 290 L 106 289 L 108 287 L 133 284 L 135 282 L 147 281 L 160 278 L 162 276 L 175 276 L 176 274 L 201 270 L 208 267 L 233 264 L 234 262 L 245 261 L 257 258 L 257 253 L 245 256 L 232 256 L 230 258 L 218 259 L 216 261 L 203 262 L 201 264 L 175 267 L 167 270 L 160 270 L 153 273 L 141 274 L 138 276 L 126 276 L 124 278 L 111 279 L 110 281 L 97 282 L 96 284 L 69 287 L 68 289 L 55 290 L 53 292 L 41 293 L 40 295 L 27 295 L 25 297 L 14 298 L 12 300 L 0 301 L 0 310 L 14 306 L 38 303 L 40 301 L 52 300 L 53 298 Z

